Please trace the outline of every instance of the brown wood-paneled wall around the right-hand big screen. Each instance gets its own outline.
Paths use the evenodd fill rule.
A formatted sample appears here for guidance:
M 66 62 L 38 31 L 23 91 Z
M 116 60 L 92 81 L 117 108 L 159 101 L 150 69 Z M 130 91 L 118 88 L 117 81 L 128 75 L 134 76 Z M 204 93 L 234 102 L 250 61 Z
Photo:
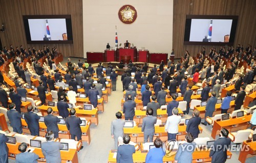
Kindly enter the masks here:
M 173 48 L 175 58 L 184 56 L 188 50 L 196 56 L 203 48 L 208 52 L 212 46 L 183 45 L 186 15 L 238 15 L 234 48 L 242 44 L 256 45 L 256 1 L 255 0 L 174 0 Z M 219 49 L 220 46 L 214 46 Z

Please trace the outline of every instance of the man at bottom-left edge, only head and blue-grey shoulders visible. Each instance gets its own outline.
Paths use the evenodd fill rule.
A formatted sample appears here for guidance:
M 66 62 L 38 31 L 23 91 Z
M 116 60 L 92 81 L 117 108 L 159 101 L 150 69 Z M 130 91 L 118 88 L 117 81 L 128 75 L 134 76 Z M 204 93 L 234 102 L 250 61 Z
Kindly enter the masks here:
M 18 151 L 21 153 L 16 155 L 16 163 L 37 163 L 39 156 L 34 152 L 27 152 L 28 145 L 22 143 L 18 146 Z

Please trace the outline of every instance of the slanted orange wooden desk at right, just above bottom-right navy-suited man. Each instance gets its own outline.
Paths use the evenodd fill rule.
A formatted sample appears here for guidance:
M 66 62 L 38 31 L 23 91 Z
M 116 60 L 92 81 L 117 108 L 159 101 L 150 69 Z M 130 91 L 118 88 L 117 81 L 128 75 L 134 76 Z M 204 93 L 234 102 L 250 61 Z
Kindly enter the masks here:
M 247 129 L 252 115 L 245 115 L 244 117 L 239 118 L 230 118 L 225 121 L 214 121 L 214 127 L 211 131 L 211 137 L 216 138 L 216 135 L 220 133 L 222 128 L 226 128 L 229 132 Z M 244 120 L 243 120 L 244 119 Z

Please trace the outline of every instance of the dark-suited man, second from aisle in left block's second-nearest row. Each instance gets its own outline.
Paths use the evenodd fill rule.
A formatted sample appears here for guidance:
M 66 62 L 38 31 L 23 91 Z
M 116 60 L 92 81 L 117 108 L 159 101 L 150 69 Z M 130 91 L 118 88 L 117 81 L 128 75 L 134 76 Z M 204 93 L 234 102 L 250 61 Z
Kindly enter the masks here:
M 60 122 L 60 119 L 58 117 L 52 115 L 52 108 L 49 107 L 47 109 L 47 116 L 45 116 L 45 124 L 47 126 L 47 131 L 52 131 L 54 133 L 54 138 L 59 138 L 59 128 L 58 128 L 58 122 Z

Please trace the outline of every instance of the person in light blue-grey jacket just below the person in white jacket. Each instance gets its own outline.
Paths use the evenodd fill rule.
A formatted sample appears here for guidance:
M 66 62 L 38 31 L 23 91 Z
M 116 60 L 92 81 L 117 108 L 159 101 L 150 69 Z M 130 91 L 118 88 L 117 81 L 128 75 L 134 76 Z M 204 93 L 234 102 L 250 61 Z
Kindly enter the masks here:
M 185 135 L 186 143 L 183 143 L 179 146 L 177 153 L 175 154 L 175 162 L 187 163 L 192 162 L 192 154 L 196 148 L 196 143 L 193 142 L 194 138 L 191 133 Z

